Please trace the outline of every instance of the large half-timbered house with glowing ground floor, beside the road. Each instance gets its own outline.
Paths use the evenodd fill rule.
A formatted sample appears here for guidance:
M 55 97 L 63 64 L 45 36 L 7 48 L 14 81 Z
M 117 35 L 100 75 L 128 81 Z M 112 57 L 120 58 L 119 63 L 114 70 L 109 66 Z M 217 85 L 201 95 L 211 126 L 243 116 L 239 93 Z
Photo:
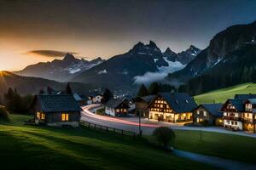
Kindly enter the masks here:
M 149 119 L 164 122 L 192 122 L 194 99 L 185 93 L 160 93 L 148 105 Z

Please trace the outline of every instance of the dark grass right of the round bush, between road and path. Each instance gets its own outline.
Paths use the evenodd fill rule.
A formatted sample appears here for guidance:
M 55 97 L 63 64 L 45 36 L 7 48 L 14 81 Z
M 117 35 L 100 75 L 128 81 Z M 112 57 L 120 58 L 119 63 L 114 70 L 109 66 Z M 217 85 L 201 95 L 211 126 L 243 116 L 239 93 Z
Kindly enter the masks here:
M 175 149 L 187 150 L 209 156 L 218 156 L 226 159 L 244 161 L 255 164 L 256 139 L 225 134 L 200 131 L 174 130 L 176 139 Z M 148 137 L 154 142 L 153 137 Z

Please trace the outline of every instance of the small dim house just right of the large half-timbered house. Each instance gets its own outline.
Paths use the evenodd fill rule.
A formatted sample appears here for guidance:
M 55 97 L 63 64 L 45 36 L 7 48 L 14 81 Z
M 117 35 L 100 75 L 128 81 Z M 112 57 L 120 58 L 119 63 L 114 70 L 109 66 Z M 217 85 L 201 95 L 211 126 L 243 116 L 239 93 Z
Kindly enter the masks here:
M 223 126 L 222 104 L 203 104 L 193 111 L 193 122 Z

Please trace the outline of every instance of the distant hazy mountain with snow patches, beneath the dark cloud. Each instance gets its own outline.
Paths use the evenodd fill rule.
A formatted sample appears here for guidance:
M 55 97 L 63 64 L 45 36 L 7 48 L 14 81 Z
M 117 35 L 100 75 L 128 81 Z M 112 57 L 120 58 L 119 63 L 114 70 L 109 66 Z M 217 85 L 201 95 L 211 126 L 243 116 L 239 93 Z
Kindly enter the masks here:
M 54 59 L 51 62 L 29 65 L 22 71 L 16 71 L 15 74 L 27 77 L 43 77 L 59 82 L 67 82 L 82 71 L 86 71 L 95 65 L 99 65 L 104 60 L 101 58 L 91 61 L 77 59 L 73 54 L 66 54 L 63 59 Z

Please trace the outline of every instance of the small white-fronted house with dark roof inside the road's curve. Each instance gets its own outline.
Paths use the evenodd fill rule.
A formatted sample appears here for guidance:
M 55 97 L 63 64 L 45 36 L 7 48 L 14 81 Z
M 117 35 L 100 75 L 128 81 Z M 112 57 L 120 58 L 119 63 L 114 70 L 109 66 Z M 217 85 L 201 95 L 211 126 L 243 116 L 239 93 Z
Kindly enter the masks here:
M 127 116 L 129 104 L 126 99 L 109 99 L 105 105 L 105 114 L 110 116 Z

